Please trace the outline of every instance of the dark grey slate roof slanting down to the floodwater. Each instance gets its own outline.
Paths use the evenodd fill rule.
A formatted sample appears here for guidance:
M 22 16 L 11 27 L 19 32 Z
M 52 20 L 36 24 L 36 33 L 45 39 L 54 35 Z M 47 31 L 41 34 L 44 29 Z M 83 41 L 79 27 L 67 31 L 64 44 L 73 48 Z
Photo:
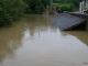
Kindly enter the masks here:
M 86 20 L 81 18 L 68 13 L 56 14 L 54 18 L 51 19 L 51 22 L 55 24 L 61 31 L 72 30 L 73 28 L 85 23 L 85 21 Z

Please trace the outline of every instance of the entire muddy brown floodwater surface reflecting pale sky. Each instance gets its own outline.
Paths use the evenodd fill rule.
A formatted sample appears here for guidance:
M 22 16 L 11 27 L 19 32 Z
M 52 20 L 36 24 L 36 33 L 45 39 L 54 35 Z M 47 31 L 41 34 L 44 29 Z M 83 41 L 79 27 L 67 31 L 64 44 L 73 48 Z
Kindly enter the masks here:
M 52 16 L 30 14 L 0 28 L 0 66 L 88 66 L 88 32 L 61 32 Z

